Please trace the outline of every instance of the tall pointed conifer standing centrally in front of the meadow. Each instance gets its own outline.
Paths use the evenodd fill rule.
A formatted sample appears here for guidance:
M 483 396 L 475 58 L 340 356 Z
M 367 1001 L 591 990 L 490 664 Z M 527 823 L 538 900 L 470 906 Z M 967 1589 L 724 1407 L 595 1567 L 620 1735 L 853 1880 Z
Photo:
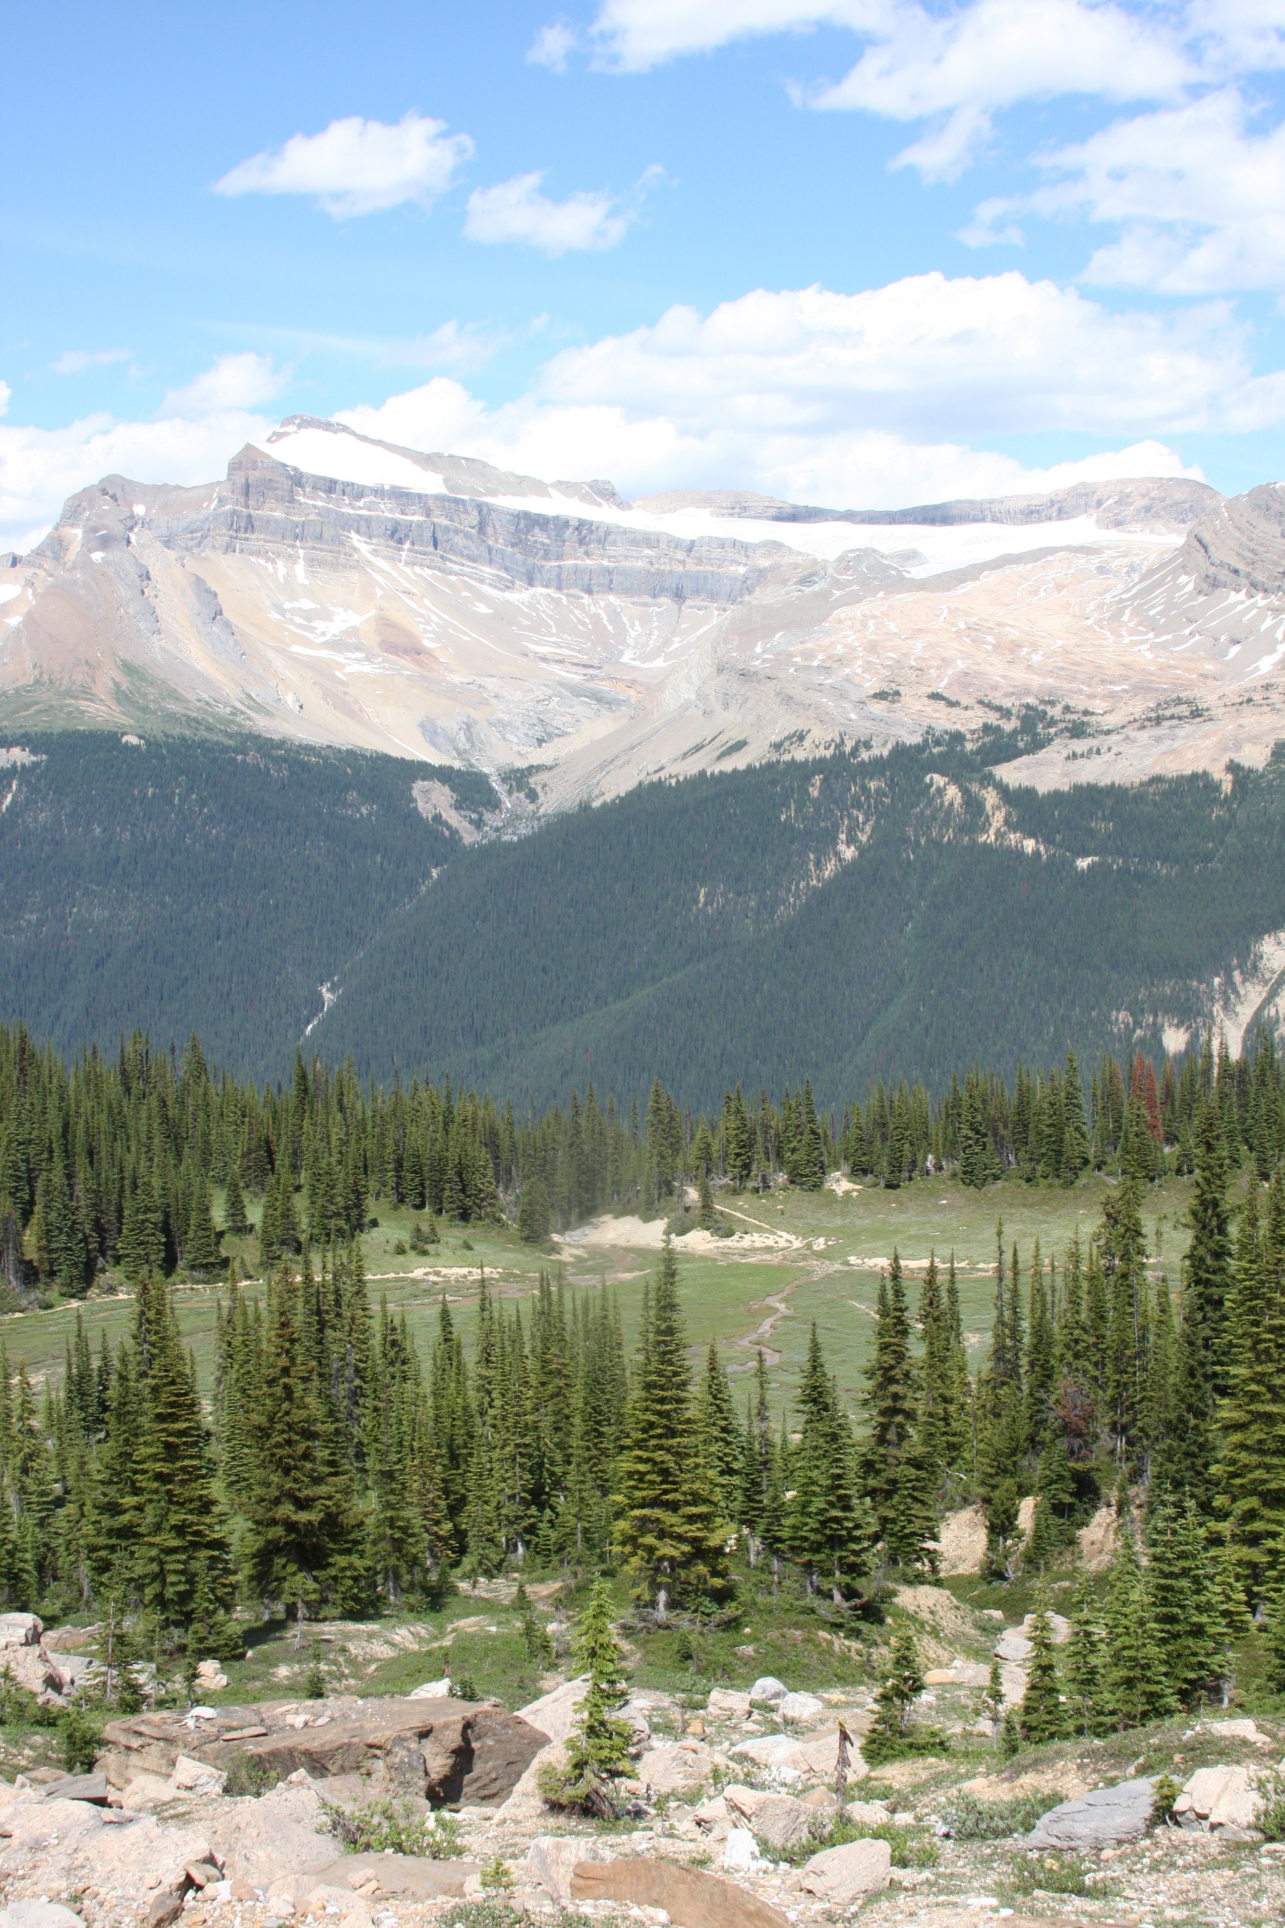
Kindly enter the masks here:
M 728 1523 L 701 1450 L 669 1234 L 640 1346 L 615 1513 L 620 1554 L 661 1616 L 670 1600 L 726 1589 Z

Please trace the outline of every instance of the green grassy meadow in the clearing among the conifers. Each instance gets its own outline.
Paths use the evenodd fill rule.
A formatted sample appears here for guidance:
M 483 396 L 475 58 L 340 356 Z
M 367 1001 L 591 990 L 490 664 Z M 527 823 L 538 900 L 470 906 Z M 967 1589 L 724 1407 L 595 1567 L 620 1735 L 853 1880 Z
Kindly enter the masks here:
M 900 1192 L 863 1186 L 842 1197 L 834 1192 L 782 1190 L 763 1197 L 755 1192 L 719 1192 L 719 1203 L 744 1213 L 773 1230 L 790 1234 L 800 1244 L 771 1251 L 713 1249 L 692 1251 L 676 1244 L 682 1301 L 694 1361 L 717 1344 L 732 1373 L 738 1400 L 747 1392 L 759 1340 L 757 1328 L 773 1321 L 761 1340 L 771 1363 L 774 1404 L 792 1400 L 807 1350 L 809 1326 L 815 1321 L 830 1369 L 853 1413 L 863 1392 L 863 1369 L 869 1361 L 875 1334 L 875 1299 L 879 1265 L 896 1245 L 907 1267 L 911 1311 L 917 1303 L 923 1263 L 936 1251 L 944 1265 L 954 1249 L 957 1259 L 959 1298 L 971 1363 L 979 1365 L 990 1336 L 990 1305 L 994 1298 L 994 1228 L 1004 1218 L 1006 1263 L 1013 1240 L 1023 1271 L 1031 1263 L 1035 1240 L 1044 1259 L 1062 1257 L 1079 1230 L 1087 1242 L 1098 1222 L 1106 1182 L 1085 1178 L 1071 1192 L 1058 1186 L 1027 1186 L 1006 1178 L 984 1192 L 971 1192 L 954 1178 L 917 1180 Z M 1169 1178 L 1146 1195 L 1142 1222 L 1148 1242 L 1154 1242 L 1160 1222 L 1164 1261 L 1171 1276 L 1179 1253 L 1187 1245 L 1183 1218 L 1191 1182 Z M 222 1217 L 222 1197 L 216 1197 L 216 1220 Z M 252 1203 L 250 1213 L 258 1207 Z M 514 1299 L 536 1292 L 539 1272 L 561 1274 L 576 1292 L 607 1286 L 620 1303 L 626 1346 L 632 1350 L 642 1313 L 645 1278 L 657 1265 L 653 1247 L 628 1244 L 588 1245 L 561 1244 L 553 1253 L 522 1245 L 511 1226 L 451 1226 L 439 1222 L 441 1244 L 428 1253 L 397 1253 L 406 1242 L 416 1217 L 405 1209 L 378 1201 L 378 1228 L 362 1240 L 372 1305 L 387 1298 L 395 1317 L 403 1311 L 410 1332 L 428 1355 L 437 1326 L 437 1309 L 445 1292 L 453 1317 L 462 1325 L 466 1342 L 472 1334 L 478 1282 L 485 1271 L 493 1294 Z M 742 1218 L 732 1220 L 744 1230 L 755 1230 Z M 464 1249 L 464 1240 L 472 1249 Z M 825 1244 L 817 1244 L 825 1242 Z M 254 1240 L 233 1240 L 245 1271 L 252 1269 Z M 249 1284 L 243 1290 L 254 1292 Z M 210 1384 L 212 1338 L 218 1298 L 225 1284 L 191 1284 L 179 1290 L 179 1325 L 185 1342 L 197 1357 L 204 1386 Z M 767 1299 L 780 1298 L 784 1313 Z M 129 1330 L 133 1301 L 123 1292 L 112 1298 L 89 1299 L 83 1319 L 94 1350 L 100 1334 L 116 1346 Z M 75 1305 L 60 1303 L 52 1311 L 17 1313 L 0 1319 L 0 1336 L 10 1361 L 27 1363 L 33 1379 L 62 1377 L 67 1336 L 75 1323 Z M 977 1600 L 975 1604 L 984 1604 Z

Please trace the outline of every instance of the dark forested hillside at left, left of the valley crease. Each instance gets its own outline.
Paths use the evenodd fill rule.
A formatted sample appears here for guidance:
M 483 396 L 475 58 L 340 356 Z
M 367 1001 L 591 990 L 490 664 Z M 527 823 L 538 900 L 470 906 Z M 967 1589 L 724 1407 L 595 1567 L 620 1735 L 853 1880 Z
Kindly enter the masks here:
M 0 1014 L 62 1049 L 195 1028 L 222 1062 L 289 1068 L 320 985 L 459 848 L 410 785 L 460 777 L 422 763 L 264 738 L 27 746 L 42 762 L 0 769 Z

